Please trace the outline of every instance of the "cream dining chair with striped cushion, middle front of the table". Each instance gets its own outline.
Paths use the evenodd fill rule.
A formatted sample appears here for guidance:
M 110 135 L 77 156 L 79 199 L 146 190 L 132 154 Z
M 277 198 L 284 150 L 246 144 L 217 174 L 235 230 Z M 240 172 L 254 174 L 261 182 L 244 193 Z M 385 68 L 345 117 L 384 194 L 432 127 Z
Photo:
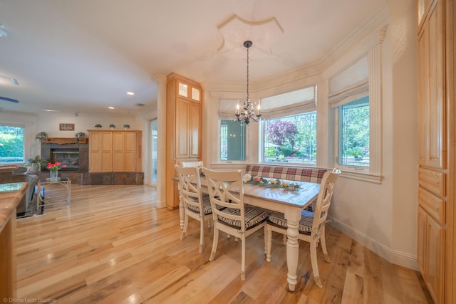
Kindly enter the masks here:
M 204 168 L 204 173 L 207 177 L 214 229 L 214 242 L 209 261 L 215 258 L 219 231 L 237 236 L 241 240 L 241 280 L 245 281 L 246 238 L 265 228 L 267 211 L 244 204 L 244 185 L 240 170 L 219 172 Z

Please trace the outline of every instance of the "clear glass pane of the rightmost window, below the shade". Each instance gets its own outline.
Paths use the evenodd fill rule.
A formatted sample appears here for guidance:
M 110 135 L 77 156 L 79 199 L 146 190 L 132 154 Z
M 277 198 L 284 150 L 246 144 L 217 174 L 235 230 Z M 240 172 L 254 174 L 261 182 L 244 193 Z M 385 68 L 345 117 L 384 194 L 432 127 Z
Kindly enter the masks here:
M 338 164 L 369 167 L 368 96 L 338 106 Z

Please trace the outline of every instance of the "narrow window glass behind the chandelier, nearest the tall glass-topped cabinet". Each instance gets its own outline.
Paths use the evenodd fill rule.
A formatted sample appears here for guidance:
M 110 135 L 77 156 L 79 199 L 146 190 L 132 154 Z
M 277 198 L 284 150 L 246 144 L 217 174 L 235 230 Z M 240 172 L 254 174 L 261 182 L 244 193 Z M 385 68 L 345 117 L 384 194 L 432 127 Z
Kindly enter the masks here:
M 246 125 L 235 120 L 220 120 L 220 160 L 244 161 Z

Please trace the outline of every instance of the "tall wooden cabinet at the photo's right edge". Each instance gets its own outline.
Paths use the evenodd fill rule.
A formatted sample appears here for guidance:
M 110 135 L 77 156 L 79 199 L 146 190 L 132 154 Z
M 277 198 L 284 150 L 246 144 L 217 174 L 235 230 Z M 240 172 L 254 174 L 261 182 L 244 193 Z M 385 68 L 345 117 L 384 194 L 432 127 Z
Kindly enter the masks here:
M 435 303 L 455 303 L 455 1 L 417 2 L 418 268 Z

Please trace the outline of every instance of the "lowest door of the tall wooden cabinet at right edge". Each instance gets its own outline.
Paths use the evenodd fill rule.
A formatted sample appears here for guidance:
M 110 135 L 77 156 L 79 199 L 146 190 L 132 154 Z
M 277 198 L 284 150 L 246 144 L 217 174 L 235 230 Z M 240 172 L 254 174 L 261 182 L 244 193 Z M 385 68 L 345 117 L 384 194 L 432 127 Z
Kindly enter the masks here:
M 427 216 L 427 258 L 426 258 L 426 282 L 435 303 L 443 303 L 443 266 L 445 256 L 443 249 L 445 246 L 445 230 L 442 229 L 432 217 Z

